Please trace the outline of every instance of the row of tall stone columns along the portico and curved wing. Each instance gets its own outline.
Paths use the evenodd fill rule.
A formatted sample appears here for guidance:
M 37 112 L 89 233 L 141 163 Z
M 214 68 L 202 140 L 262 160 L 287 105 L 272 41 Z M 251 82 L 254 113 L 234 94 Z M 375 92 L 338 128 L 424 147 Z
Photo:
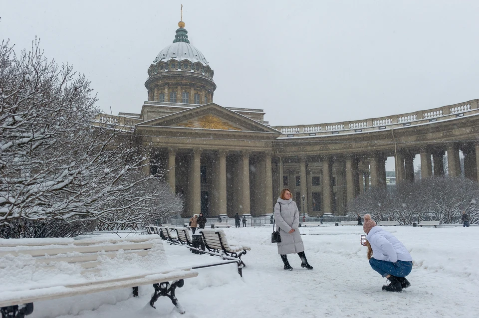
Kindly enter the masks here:
M 357 195 L 371 187 L 386 187 L 385 163 L 388 157 L 395 159 L 396 184 L 400 187 L 414 182 L 416 154 L 421 158 L 421 178 L 445 174 L 443 159 L 446 152 L 448 174 L 460 176 L 460 150 L 464 154 L 465 176 L 478 180 L 479 156 L 476 154 L 479 144 L 473 143 L 363 155 L 290 158 L 273 156 L 269 151 L 162 149 L 162 158 L 167 171 L 165 181 L 185 197 L 185 215 L 200 213 L 208 204 L 210 217 L 232 217 L 237 212 L 246 216 L 272 213 L 283 187 L 291 189 L 301 213 L 315 214 L 320 210 L 321 213 L 343 214 L 347 212 L 348 202 Z M 313 206 L 316 210 L 311 213 Z

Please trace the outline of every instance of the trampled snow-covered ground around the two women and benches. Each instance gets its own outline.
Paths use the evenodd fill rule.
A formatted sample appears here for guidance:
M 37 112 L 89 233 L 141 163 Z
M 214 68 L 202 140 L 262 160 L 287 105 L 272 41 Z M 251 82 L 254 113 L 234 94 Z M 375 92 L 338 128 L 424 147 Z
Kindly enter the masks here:
M 177 297 L 185 315 L 167 298 L 149 307 L 151 286 L 35 303 L 32 318 L 157 318 L 157 317 L 478 317 L 479 227 L 386 227 L 414 259 L 408 276 L 412 286 L 402 293 L 381 291 L 386 280 L 374 272 L 359 244 L 360 226 L 302 228 L 306 257 L 314 270 L 284 271 L 271 228 L 225 229 L 230 241 L 249 245 L 242 257 L 243 277 L 235 265 L 199 269 L 185 280 Z M 126 235 L 126 234 L 125 234 Z M 111 234 L 105 234 L 111 236 Z M 96 236 L 97 237 L 97 236 Z M 131 235 L 129 235 L 131 237 Z M 168 263 L 184 267 L 211 263 L 218 257 L 192 254 L 182 246 L 164 244 Z

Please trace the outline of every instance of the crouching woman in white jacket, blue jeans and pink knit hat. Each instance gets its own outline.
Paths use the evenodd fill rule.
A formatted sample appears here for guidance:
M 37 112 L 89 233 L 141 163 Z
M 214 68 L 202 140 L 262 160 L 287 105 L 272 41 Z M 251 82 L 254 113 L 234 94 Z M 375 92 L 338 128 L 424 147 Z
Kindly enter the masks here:
M 401 292 L 411 284 L 406 276 L 413 268 L 413 258 L 406 247 L 390 232 L 376 226 L 371 215 L 364 215 L 364 233 L 368 247 L 369 264 L 379 274 L 391 283 L 383 286 L 383 291 Z

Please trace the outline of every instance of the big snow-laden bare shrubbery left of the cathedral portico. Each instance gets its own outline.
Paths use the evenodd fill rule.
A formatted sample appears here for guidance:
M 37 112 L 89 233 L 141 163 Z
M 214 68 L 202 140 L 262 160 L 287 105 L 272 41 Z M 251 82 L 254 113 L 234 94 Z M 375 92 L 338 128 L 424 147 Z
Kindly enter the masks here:
M 142 173 L 148 149 L 137 137 L 93 126 L 96 100 L 85 76 L 48 60 L 38 41 L 19 56 L 1 43 L 0 234 L 33 237 L 38 224 L 63 226 L 60 236 L 142 227 L 179 211 L 167 185 Z

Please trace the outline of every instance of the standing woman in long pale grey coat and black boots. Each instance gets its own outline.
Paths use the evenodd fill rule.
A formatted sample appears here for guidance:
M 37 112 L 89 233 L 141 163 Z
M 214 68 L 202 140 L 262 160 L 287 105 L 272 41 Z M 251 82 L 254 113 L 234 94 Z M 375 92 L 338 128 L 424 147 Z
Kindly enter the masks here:
M 291 199 L 291 191 L 282 189 L 277 203 L 274 205 L 274 219 L 276 220 L 276 229 L 281 236 L 281 242 L 278 244 L 278 254 L 284 263 L 284 269 L 292 271 L 286 254 L 298 254 L 301 259 L 301 267 L 312 270 L 313 267 L 308 264 L 304 255 L 304 245 L 299 234 L 299 210 Z

